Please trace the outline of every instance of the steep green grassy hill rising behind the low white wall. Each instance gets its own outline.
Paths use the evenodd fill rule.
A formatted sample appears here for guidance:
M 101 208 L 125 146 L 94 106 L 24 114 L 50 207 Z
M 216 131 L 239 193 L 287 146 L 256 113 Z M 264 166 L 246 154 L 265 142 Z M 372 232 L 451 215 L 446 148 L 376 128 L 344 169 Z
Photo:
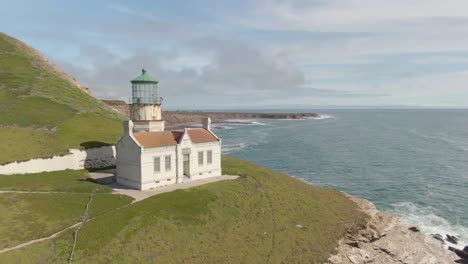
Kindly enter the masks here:
M 21 41 L 0 33 L 0 164 L 115 143 L 120 117 Z

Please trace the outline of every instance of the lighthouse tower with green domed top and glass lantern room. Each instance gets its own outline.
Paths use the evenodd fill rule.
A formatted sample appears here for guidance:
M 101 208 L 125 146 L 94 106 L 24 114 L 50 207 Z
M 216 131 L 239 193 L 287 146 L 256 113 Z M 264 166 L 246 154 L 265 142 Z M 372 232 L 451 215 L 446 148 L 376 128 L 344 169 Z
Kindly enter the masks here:
M 134 124 L 134 132 L 163 131 L 164 120 L 161 116 L 161 97 L 158 97 L 158 81 L 143 69 L 142 74 L 130 82 L 130 119 Z

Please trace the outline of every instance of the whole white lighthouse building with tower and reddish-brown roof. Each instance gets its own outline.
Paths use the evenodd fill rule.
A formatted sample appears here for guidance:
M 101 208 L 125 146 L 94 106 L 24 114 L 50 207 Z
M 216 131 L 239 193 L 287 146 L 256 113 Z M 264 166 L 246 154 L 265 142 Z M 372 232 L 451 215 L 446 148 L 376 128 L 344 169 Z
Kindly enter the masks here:
M 221 176 L 221 139 L 202 128 L 164 130 L 156 81 L 145 70 L 131 81 L 131 120 L 116 145 L 117 183 L 138 190 Z

